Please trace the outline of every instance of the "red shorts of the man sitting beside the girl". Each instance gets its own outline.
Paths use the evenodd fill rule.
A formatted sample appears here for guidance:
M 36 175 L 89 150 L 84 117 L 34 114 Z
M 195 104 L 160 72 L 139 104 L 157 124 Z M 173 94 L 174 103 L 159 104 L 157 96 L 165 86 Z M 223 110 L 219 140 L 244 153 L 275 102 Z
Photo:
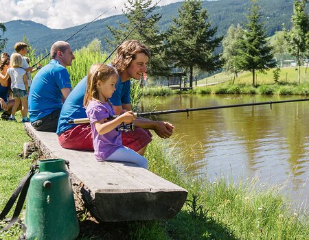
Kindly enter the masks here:
M 138 152 L 152 141 L 151 137 L 152 134 L 149 130 L 135 128 L 134 132 L 122 132 L 122 144 Z M 64 148 L 93 151 L 91 125 L 89 123 L 78 124 L 76 127 L 62 132 L 58 136 L 58 141 Z

